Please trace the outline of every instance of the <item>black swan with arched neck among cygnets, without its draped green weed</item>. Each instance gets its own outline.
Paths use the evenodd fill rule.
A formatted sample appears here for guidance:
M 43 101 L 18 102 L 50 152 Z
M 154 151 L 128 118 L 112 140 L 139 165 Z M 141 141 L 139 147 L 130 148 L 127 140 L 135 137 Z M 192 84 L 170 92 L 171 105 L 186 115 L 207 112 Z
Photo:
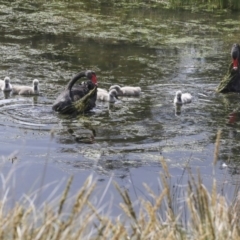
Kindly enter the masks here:
M 78 79 L 82 77 L 87 77 L 89 80 L 83 82 L 82 84 L 74 85 Z M 52 109 L 57 112 L 65 112 L 64 110 L 71 106 L 73 102 L 83 98 L 90 90 L 97 86 L 97 77 L 95 72 L 91 70 L 83 71 L 77 73 L 67 84 L 64 91 L 55 100 Z M 95 107 L 95 102 L 97 99 L 97 93 L 94 94 L 89 100 L 89 104 L 85 111 L 89 111 Z M 67 113 L 67 112 L 65 112 Z

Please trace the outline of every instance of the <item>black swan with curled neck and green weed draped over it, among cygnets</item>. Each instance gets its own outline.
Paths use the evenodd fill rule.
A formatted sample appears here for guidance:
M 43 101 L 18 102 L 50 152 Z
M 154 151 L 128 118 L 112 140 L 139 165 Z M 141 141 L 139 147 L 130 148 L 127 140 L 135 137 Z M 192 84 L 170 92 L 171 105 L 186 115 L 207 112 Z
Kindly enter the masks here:
M 78 79 L 87 77 L 88 80 L 82 84 L 75 84 Z M 75 85 L 74 85 L 75 84 Z M 87 103 L 81 112 L 86 112 L 95 107 L 97 99 L 97 77 L 91 70 L 77 73 L 67 84 L 64 91 L 55 100 L 52 109 L 60 113 L 72 113 L 76 106 L 80 106 L 81 100 Z M 78 105 L 77 105 L 78 104 Z M 80 111 L 79 111 L 80 112 Z

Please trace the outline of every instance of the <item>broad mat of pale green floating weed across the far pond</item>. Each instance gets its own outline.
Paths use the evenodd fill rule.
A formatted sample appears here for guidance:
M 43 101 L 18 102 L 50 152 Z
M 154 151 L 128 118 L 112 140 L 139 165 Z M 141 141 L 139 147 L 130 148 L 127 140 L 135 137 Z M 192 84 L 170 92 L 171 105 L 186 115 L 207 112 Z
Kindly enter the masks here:
M 211 32 L 211 35 L 213 32 L 218 33 L 218 29 L 210 29 L 204 19 L 191 20 L 189 23 L 166 19 L 163 21 L 164 16 L 161 16 L 163 12 L 157 14 L 151 9 L 152 14 L 146 17 L 144 11 L 139 9 L 137 14 L 136 11 L 133 14 L 131 8 L 116 8 L 116 3 L 112 2 L 112 4 L 114 9 L 110 9 L 110 14 L 106 15 L 101 11 L 90 11 L 88 4 L 84 1 L 41 1 L 41 3 L 16 1 L 13 4 L 6 2 L 0 8 L 2 12 L 0 19 L 6 32 L 19 30 L 49 33 L 56 36 L 75 32 L 80 38 L 115 44 L 128 42 L 149 47 L 168 43 L 169 40 L 175 44 L 197 41 L 194 32 L 199 30 L 203 33 Z M 141 6 L 139 4 L 138 1 L 134 2 L 134 8 Z M 132 6 L 131 3 L 122 3 L 122 5 Z M 101 9 L 101 1 L 96 2 L 94 7 Z M 112 14 L 111 11 L 113 11 Z M 129 17 L 126 18 L 128 15 Z M 179 41 L 179 27 L 185 31 L 187 36 L 191 32 L 191 37 L 187 39 L 185 35 Z M 225 30 L 228 31 L 227 28 Z

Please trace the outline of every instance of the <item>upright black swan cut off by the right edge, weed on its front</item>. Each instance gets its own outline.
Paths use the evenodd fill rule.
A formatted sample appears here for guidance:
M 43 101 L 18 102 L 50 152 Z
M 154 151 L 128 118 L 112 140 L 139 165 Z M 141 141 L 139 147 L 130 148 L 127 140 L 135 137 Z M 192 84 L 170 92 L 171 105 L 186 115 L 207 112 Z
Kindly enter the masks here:
M 240 92 L 240 46 L 234 43 L 231 49 L 232 62 L 216 91 L 221 93 Z

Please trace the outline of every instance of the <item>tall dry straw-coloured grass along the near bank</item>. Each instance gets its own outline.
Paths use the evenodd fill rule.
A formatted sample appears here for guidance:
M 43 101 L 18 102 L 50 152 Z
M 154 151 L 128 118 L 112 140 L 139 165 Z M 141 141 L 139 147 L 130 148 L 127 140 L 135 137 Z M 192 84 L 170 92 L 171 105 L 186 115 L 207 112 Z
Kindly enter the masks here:
M 218 159 L 220 138 L 218 132 L 213 165 Z M 2 199 L 0 239 L 240 239 L 238 192 L 228 203 L 218 193 L 214 178 L 212 189 L 208 190 L 201 174 L 193 175 L 188 167 L 185 189 L 173 188 L 167 164 L 163 158 L 160 161 L 161 191 L 156 194 L 144 184 L 148 197 L 138 199 L 138 205 L 115 183 L 122 198 L 123 213 L 116 218 L 103 214 L 101 206 L 96 207 L 92 202 L 96 183 L 91 176 L 74 197 L 71 207 L 68 194 L 72 178 L 54 205 L 37 208 L 29 200 L 28 205 L 16 203 L 6 210 L 6 201 Z

